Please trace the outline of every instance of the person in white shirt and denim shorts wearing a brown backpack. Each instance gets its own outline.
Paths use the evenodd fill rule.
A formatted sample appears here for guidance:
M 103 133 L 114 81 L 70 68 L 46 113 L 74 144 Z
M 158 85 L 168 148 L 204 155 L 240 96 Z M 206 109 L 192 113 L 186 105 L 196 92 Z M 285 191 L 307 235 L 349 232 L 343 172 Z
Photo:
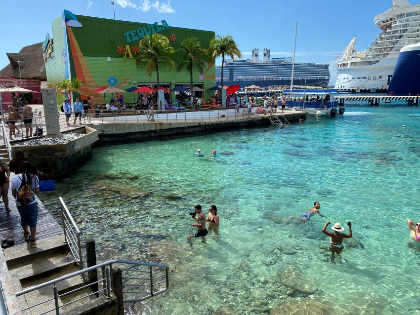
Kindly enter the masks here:
M 38 203 L 35 194 L 40 192 L 40 181 L 31 173 L 30 161 L 23 161 L 20 164 L 20 174 L 11 179 L 12 195 L 16 198 L 16 206 L 20 215 L 20 225 L 23 228 L 23 237 L 29 241 L 31 247 L 37 247 L 35 234 L 37 232 Z M 30 227 L 30 232 L 28 231 Z

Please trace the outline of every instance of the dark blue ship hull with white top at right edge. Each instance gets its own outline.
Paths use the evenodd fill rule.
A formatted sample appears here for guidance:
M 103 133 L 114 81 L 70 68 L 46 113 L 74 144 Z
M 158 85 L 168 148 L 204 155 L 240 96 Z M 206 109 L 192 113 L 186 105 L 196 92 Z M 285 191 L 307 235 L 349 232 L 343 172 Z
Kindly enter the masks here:
M 395 65 L 394 75 L 389 83 L 388 94 L 420 94 L 420 43 L 401 48 Z

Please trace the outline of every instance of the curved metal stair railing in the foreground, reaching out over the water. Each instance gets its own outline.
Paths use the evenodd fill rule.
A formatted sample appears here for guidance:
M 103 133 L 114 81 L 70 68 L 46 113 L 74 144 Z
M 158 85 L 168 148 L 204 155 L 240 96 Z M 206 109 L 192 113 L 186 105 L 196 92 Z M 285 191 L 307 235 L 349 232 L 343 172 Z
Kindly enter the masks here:
M 113 269 L 120 268 L 121 275 L 122 275 L 122 283 L 117 284 L 116 278 L 112 279 L 113 277 Z M 57 283 L 60 281 L 66 281 L 69 278 L 80 276 L 88 272 L 97 271 L 97 269 L 101 270 L 102 278 L 98 277 L 97 280 L 89 280 L 89 283 L 73 289 L 68 292 L 60 293 L 57 289 Z M 154 272 L 154 269 L 157 269 Z M 60 309 L 70 305 L 71 303 L 77 302 L 89 296 L 105 296 L 106 298 L 112 298 L 111 292 L 115 293 L 117 299 L 122 298 L 123 303 L 132 303 L 132 302 L 140 302 L 146 299 L 149 299 L 155 295 L 162 294 L 166 292 L 169 288 L 169 269 L 167 265 L 163 264 L 153 264 L 153 263 L 143 263 L 138 261 L 130 261 L 124 259 L 113 259 L 109 260 L 95 266 L 85 268 L 83 270 L 71 273 L 66 276 L 61 276 L 56 279 L 41 283 L 39 285 L 24 289 L 16 293 L 16 296 L 22 296 L 27 293 L 33 292 L 35 290 L 42 289 L 47 286 L 52 285 L 52 295 L 53 297 L 48 298 L 42 302 L 39 302 L 34 305 L 30 305 L 21 311 L 24 312 L 26 310 L 31 310 L 31 314 L 38 314 L 44 315 L 49 312 L 55 311 L 56 315 L 60 315 Z M 115 290 L 115 287 L 119 285 L 122 288 L 122 296 L 117 292 L 119 290 Z M 100 286 L 100 287 L 99 287 Z M 90 291 L 85 292 L 83 296 L 81 296 L 81 292 L 78 293 L 78 298 L 72 299 L 67 303 L 61 302 L 61 297 L 69 295 L 71 293 L 75 293 L 78 291 L 82 291 L 87 288 L 94 288 L 93 292 Z M 139 291 L 136 291 L 139 290 Z M 86 291 L 86 290 L 85 290 Z M 115 292 L 114 292 L 115 291 Z M 120 295 L 120 297 L 119 297 Z M 66 298 L 67 300 L 69 297 Z M 54 306 L 53 308 L 53 302 Z M 45 303 L 49 303 L 49 310 L 44 311 L 45 308 L 48 306 L 44 305 Z M 34 309 L 37 308 L 37 309 Z M 67 308 L 66 308 L 67 309 Z M 37 313 L 40 310 L 42 313 Z M 66 310 L 67 311 L 67 310 Z

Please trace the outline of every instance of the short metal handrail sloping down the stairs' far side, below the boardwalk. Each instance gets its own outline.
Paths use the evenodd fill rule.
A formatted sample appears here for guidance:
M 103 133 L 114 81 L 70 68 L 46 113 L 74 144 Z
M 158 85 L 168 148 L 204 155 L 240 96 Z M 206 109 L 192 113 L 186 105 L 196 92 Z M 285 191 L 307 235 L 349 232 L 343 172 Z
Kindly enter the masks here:
M 79 228 L 73 216 L 71 215 L 69 209 L 66 206 L 62 197 L 58 197 L 61 204 L 61 218 L 63 221 L 63 231 L 64 231 L 64 242 L 70 248 L 70 252 L 73 255 L 73 258 L 79 265 L 80 270 L 83 269 L 83 257 L 82 257 L 82 246 L 80 243 L 80 236 L 82 232 L 80 232 Z M 70 238 L 69 238 L 70 237 Z M 82 274 L 82 278 L 84 279 L 84 274 Z

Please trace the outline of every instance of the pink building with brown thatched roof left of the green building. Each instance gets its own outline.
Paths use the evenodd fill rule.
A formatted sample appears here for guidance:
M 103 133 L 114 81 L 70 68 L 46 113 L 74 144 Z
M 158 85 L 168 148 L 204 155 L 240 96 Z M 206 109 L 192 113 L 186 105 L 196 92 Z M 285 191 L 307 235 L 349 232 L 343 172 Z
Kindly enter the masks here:
M 22 86 L 32 93 L 32 104 L 41 104 L 41 81 L 46 81 L 45 63 L 42 58 L 42 42 L 23 47 L 19 52 L 6 52 L 9 64 L 0 70 L 0 86 Z M 19 63 L 18 63 L 19 61 Z M 22 82 L 19 75 L 22 76 Z M 12 104 L 12 94 L 2 93 L 3 109 Z

